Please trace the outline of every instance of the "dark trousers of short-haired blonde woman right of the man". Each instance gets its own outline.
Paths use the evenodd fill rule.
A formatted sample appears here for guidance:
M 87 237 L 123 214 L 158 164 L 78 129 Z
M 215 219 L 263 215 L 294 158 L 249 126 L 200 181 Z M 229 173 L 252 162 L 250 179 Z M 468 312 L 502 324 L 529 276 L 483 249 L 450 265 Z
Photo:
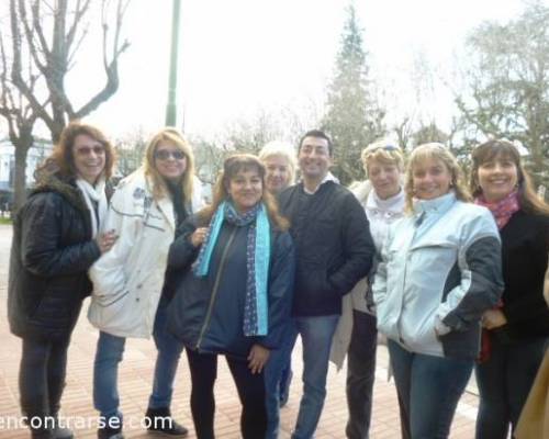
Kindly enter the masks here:
M 366 439 L 372 413 L 378 329 L 376 316 L 352 311 L 352 333 L 347 353 L 347 406 L 349 439 Z

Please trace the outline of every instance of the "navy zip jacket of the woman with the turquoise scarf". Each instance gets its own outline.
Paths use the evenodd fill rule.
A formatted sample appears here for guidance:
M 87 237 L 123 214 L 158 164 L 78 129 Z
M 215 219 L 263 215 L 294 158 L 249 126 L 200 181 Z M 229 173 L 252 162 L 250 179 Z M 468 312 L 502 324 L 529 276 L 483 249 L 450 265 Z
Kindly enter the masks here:
M 246 358 L 253 345 L 276 349 L 290 323 L 294 256 L 288 232 L 271 232 L 269 268 L 268 334 L 246 337 L 243 331 L 246 296 L 246 237 L 249 226 L 226 222 L 212 252 L 209 274 L 197 278 L 190 270 L 198 250 L 189 236 L 197 228 L 190 217 L 170 247 L 168 264 L 186 270 L 182 283 L 169 305 L 168 329 L 186 347 L 200 352 L 228 353 Z

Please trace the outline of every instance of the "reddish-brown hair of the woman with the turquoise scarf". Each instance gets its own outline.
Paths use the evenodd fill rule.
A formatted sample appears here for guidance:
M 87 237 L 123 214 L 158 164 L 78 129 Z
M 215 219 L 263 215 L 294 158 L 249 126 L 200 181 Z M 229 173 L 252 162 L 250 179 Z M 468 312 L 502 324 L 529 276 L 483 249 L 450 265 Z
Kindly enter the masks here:
M 199 212 L 199 217 L 204 222 L 210 222 L 220 204 L 231 198 L 227 192 L 229 181 L 234 179 L 238 172 L 250 169 L 257 170 L 257 173 L 261 178 L 261 199 L 267 209 L 269 219 L 279 229 L 287 230 L 290 226 L 288 219 L 280 215 L 274 198 L 265 187 L 265 166 L 256 156 L 253 156 L 250 154 L 236 154 L 225 159 L 225 162 L 223 164 L 223 170 L 221 171 L 220 176 L 217 177 L 217 181 L 215 182 L 212 204 L 201 210 Z

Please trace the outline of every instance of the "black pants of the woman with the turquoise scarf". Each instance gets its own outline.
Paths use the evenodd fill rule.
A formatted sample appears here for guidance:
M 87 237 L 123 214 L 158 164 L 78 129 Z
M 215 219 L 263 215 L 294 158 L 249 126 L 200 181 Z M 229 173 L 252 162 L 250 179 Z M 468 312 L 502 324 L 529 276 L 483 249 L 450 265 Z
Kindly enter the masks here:
M 191 412 L 199 439 L 213 439 L 215 398 L 213 386 L 217 378 L 217 356 L 186 349 L 191 371 Z M 267 431 L 264 374 L 251 374 L 244 359 L 225 356 L 243 405 L 240 431 L 244 439 L 260 439 Z

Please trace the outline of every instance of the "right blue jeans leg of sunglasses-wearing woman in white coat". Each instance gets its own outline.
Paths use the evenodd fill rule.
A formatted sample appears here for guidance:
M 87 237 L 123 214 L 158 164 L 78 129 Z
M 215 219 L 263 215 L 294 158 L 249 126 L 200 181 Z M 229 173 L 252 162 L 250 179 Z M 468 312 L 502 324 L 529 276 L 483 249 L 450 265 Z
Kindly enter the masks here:
M 169 301 L 163 297 L 155 317 L 153 337 L 158 356 L 156 357 L 153 393 L 148 399 L 149 408 L 170 407 L 177 367 L 183 351 L 183 344 L 167 330 L 168 304 Z

